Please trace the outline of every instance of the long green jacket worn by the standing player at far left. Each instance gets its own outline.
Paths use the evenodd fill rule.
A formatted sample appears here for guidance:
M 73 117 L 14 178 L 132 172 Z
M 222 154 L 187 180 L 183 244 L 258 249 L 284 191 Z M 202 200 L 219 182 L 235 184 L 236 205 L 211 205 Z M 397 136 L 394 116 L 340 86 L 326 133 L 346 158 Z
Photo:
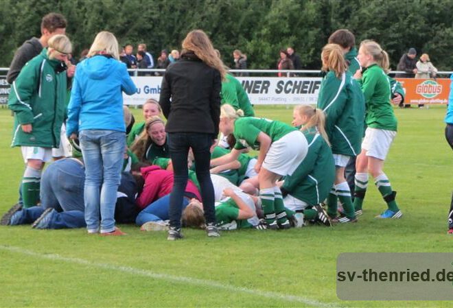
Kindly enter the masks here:
M 66 72 L 56 73 L 58 60 L 47 57 L 47 49 L 34 57 L 11 86 L 8 107 L 14 111 L 12 146 L 58 147 L 66 113 Z M 21 124 L 32 124 L 25 133 Z

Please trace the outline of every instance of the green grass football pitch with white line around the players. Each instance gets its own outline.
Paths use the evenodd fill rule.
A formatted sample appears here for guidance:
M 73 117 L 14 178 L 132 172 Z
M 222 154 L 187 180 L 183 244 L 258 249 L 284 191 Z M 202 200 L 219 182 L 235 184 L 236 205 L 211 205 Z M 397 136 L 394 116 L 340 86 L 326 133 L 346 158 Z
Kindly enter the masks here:
M 384 169 L 398 191 L 401 220 L 373 218 L 385 204 L 370 185 L 360 221 L 334 228 L 240 230 L 219 239 L 184 230 L 183 241 L 168 242 L 165 233 L 137 226 L 121 226 L 127 236 L 108 238 L 83 229 L 1 226 L 0 307 L 451 307 L 336 296 L 341 252 L 452 251 L 445 106 L 395 112 L 399 131 Z M 285 107 L 257 107 L 257 115 L 288 123 L 291 114 Z M 23 173 L 11 131 L 10 111 L 0 109 L 0 213 L 16 202 Z

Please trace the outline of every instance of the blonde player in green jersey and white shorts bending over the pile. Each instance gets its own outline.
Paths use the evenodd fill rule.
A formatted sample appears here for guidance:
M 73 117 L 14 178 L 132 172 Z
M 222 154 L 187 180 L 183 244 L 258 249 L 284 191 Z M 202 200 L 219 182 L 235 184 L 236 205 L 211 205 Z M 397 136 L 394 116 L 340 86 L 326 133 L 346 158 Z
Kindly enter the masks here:
M 259 148 L 255 171 L 258 172 L 259 196 L 268 228 L 290 228 L 277 179 L 294 172 L 307 154 L 307 140 L 296 128 L 280 121 L 240 117 L 242 110 L 228 104 L 220 108 L 220 131 L 237 140 L 229 154 L 237 159 L 247 147 Z

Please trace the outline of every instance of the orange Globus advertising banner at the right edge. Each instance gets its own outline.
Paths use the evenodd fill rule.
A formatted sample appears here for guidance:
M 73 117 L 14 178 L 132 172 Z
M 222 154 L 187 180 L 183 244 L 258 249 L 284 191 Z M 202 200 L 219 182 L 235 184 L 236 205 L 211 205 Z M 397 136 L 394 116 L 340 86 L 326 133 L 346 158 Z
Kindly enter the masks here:
M 450 79 L 396 78 L 401 82 L 406 97 L 404 104 L 448 104 Z

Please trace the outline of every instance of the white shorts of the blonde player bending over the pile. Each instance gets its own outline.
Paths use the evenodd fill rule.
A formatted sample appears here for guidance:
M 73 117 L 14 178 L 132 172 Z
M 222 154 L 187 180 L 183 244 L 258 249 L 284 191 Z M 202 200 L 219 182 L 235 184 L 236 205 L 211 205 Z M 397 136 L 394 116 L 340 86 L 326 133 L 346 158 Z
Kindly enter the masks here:
M 280 176 L 291 175 L 307 156 L 307 150 L 307 139 L 294 130 L 270 145 L 262 167 Z

